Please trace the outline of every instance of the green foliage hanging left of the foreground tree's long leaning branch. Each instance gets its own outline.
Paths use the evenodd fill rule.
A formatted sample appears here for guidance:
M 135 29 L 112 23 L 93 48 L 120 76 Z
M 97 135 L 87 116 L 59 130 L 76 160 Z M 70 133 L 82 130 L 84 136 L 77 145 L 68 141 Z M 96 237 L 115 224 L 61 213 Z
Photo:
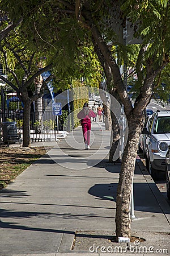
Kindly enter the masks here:
M 71 80 L 84 77 L 86 84 L 99 86 L 101 67 L 93 48 L 86 42 L 87 31 L 79 26 L 75 15 L 59 13 L 61 3 L 54 1 L 1 2 L 11 19 L 23 16 L 19 36 L 30 51 L 37 51 L 36 60 L 45 56 L 45 63 L 54 65 L 54 84 L 65 90 Z M 0 6 L 1 6 L 0 5 Z M 15 11 L 11 11 L 15 9 Z M 16 39 L 15 39 L 16 40 Z M 39 55 L 39 56 L 38 56 Z M 35 63 L 35 64 L 37 64 Z M 20 71 L 21 72 L 21 71 Z

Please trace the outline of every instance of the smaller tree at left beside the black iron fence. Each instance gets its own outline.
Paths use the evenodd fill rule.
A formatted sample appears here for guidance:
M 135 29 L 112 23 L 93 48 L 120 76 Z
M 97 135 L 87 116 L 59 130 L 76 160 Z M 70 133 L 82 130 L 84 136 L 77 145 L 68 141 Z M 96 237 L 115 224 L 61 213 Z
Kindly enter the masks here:
M 23 102 L 23 147 L 28 147 L 30 143 L 29 125 L 31 102 L 36 101 L 44 94 L 46 81 L 41 81 L 39 90 L 32 96 L 28 95 L 28 89 L 31 84 L 41 75 L 42 72 L 48 71 L 52 68 L 52 64 L 46 64 L 39 69 L 36 65 L 36 57 L 39 52 L 31 52 L 27 50 L 25 42 L 20 36 L 12 35 L 6 36 L 0 43 L 1 61 L 6 69 L 8 77 L 0 76 L 6 84 L 13 88 L 20 101 Z M 11 61 L 12 60 L 12 61 Z

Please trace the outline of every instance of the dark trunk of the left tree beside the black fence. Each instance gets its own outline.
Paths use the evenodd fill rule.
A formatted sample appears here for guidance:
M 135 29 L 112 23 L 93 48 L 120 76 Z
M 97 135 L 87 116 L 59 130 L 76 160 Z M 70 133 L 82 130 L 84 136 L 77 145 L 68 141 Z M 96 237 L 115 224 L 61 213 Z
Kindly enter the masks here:
M 23 147 L 29 147 L 30 145 L 30 135 L 29 135 L 29 125 L 30 125 L 30 112 L 31 112 L 31 100 L 26 98 L 24 103 L 24 114 L 23 114 Z

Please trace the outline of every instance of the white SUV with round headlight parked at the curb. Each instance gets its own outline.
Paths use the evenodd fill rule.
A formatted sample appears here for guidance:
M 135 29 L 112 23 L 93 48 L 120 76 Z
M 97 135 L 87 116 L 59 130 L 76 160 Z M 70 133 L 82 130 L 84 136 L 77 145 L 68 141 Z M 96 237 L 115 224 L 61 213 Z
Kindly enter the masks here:
M 146 167 L 153 179 L 159 171 L 165 171 L 165 155 L 170 145 L 170 111 L 152 114 L 148 127 L 144 128 Z

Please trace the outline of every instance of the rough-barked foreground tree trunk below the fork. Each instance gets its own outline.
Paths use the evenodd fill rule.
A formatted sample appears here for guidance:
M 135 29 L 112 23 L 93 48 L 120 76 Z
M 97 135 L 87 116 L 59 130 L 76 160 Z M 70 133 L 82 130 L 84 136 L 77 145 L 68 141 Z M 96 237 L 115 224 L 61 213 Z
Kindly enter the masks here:
M 129 136 L 122 158 L 122 167 L 120 179 L 117 188 L 116 199 L 116 235 L 118 237 L 130 238 L 130 198 L 131 184 L 135 170 L 135 160 L 137 158 L 137 149 L 139 135 L 143 127 L 144 114 L 139 117 L 129 115 Z

